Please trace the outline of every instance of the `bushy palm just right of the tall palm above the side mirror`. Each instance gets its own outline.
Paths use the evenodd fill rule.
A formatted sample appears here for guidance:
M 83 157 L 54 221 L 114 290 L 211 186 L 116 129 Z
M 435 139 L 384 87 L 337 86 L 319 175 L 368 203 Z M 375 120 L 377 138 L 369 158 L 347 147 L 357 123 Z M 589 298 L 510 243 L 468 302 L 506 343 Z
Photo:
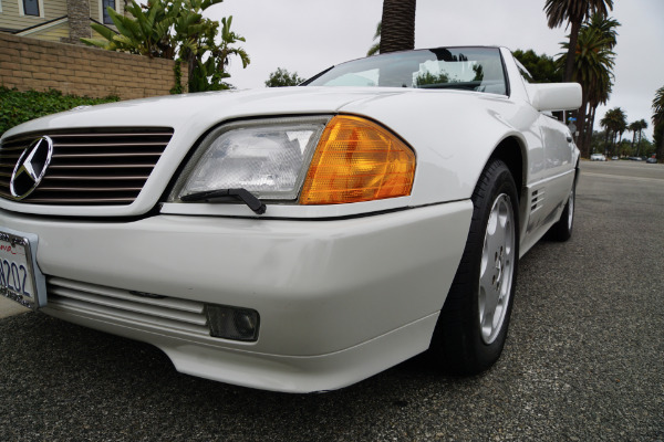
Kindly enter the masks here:
M 590 144 L 594 115 L 600 104 L 606 103 L 613 81 L 613 66 L 615 53 L 615 28 L 620 23 L 613 19 L 594 14 L 591 20 L 583 24 L 579 32 L 577 52 L 574 54 L 573 81 L 581 84 L 583 88 L 582 104 L 579 108 L 578 144 L 582 155 L 590 155 Z M 563 49 L 569 49 L 568 42 L 562 43 Z M 568 53 L 562 53 L 558 59 L 560 65 L 568 65 Z

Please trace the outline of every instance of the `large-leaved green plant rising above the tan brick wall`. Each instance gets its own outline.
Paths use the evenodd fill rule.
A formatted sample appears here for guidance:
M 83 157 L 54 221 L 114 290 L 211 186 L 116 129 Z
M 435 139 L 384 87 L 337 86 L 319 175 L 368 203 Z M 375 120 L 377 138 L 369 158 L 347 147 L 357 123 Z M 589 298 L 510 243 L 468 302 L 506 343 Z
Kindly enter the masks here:
M 132 0 L 125 7 L 126 17 L 107 8 L 118 33 L 93 23 L 92 29 L 104 39 L 81 40 L 110 51 L 184 61 L 190 92 L 229 88 L 225 80 L 230 76 L 230 57 L 239 56 L 243 67 L 250 60 L 245 50 L 232 46 L 245 41 L 230 30 L 232 17 L 221 22 L 203 17 L 206 9 L 222 1 L 151 0 L 142 6 Z

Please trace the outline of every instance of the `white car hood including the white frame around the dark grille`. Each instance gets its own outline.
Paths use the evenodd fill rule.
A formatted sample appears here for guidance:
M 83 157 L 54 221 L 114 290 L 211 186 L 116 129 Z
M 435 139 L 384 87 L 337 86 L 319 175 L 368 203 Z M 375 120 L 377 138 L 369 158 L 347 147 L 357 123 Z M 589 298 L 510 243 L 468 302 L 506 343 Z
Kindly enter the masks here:
M 87 217 L 133 217 L 151 211 L 198 140 L 211 128 L 243 117 L 335 114 L 352 103 L 406 93 L 398 88 L 282 87 L 222 91 L 81 106 L 38 118 L 8 130 L 2 140 L 20 135 L 48 135 L 60 129 L 149 128 L 174 129 L 136 200 L 128 206 L 46 206 L 1 199 L 0 207 L 17 212 Z

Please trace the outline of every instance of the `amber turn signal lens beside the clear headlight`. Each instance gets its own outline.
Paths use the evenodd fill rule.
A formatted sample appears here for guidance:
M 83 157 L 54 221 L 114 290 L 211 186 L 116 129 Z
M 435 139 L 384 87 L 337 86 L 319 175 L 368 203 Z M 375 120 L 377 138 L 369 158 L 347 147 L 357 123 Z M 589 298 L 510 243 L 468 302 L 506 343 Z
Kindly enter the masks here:
M 323 131 L 301 204 L 341 204 L 411 194 L 415 152 L 367 119 L 335 116 Z

